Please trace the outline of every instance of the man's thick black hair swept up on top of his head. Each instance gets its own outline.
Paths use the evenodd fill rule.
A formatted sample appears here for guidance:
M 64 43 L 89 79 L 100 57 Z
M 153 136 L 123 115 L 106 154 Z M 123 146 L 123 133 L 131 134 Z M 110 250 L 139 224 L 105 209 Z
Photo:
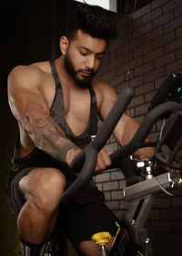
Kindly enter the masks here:
M 106 39 L 107 42 L 109 38 L 117 36 L 115 16 L 97 5 L 76 5 L 66 37 L 74 38 L 78 29 L 91 37 Z

